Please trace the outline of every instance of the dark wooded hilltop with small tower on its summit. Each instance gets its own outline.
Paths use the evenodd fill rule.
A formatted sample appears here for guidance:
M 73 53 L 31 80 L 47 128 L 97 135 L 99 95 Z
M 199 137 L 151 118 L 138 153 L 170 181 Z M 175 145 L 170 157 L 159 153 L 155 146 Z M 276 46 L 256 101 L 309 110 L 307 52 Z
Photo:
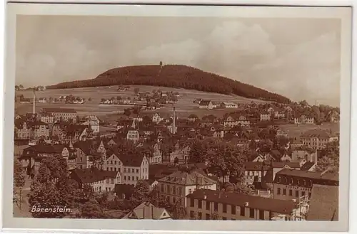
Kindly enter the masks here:
M 275 101 L 291 102 L 287 97 L 268 92 L 253 85 L 206 73 L 186 65 L 136 65 L 114 68 L 101 73 L 91 80 L 76 80 L 46 87 L 64 89 L 110 85 L 153 85 L 161 87 L 182 87 L 204 92 L 217 92 L 225 95 Z

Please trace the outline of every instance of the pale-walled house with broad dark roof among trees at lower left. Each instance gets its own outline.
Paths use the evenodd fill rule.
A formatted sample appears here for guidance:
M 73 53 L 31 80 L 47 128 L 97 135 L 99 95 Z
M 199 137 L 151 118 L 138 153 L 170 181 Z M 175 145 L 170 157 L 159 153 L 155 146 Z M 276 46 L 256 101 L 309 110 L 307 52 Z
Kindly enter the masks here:
M 81 186 L 84 184 L 91 186 L 94 192 L 114 191 L 115 184 L 119 184 L 121 181 L 118 171 L 104 171 L 95 167 L 75 169 L 70 176 Z

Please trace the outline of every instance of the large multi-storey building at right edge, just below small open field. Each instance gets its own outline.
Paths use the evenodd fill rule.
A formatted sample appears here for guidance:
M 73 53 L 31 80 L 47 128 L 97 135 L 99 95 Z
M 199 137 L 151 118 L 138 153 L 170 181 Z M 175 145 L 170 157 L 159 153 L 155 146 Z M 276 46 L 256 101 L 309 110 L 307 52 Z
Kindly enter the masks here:
M 326 144 L 331 141 L 331 134 L 323 129 L 311 129 L 303 132 L 300 139 L 308 148 L 324 149 Z

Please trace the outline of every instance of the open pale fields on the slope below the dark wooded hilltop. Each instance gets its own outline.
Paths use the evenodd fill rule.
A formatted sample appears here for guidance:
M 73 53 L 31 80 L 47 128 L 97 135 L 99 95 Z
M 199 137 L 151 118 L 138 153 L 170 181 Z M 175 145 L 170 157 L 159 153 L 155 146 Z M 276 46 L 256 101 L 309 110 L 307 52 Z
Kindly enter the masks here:
M 62 107 L 62 108 L 73 108 L 79 115 L 97 115 L 98 117 L 109 121 L 115 122 L 118 116 L 124 112 L 125 108 L 129 106 L 126 105 L 99 105 L 102 98 L 111 97 L 131 97 L 134 98 L 134 87 L 139 87 L 140 92 L 151 92 L 152 90 L 161 90 L 163 92 L 173 91 L 178 92 L 181 97 L 178 98 L 176 103 L 176 112 L 178 117 L 188 117 L 188 115 L 194 113 L 198 117 L 204 115 L 217 115 L 223 116 L 226 112 L 232 112 L 234 109 L 221 109 L 221 110 L 200 110 L 198 105 L 193 103 L 193 100 L 201 98 L 203 100 L 212 100 L 213 102 L 236 102 L 236 103 L 249 103 L 253 102 L 264 102 L 261 100 L 251 100 L 245 97 L 239 97 L 235 95 L 222 95 L 212 92 L 201 92 L 196 90 L 185 90 L 180 88 L 169 88 L 169 87 L 154 87 L 154 86 L 141 86 L 135 85 L 131 86 L 128 91 L 119 92 L 117 86 L 112 87 L 84 87 L 77 89 L 65 89 L 65 90 L 44 90 L 36 92 L 36 97 L 53 97 L 58 98 L 63 95 L 74 95 L 78 97 L 85 98 L 86 103 L 84 104 L 64 104 L 64 103 L 36 103 L 36 112 L 39 112 L 42 108 L 46 107 Z M 24 95 L 25 98 L 32 99 L 31 90 L 20 90 L 16 92 L 16 95 Z M 89 97 L 91 101 L 88 101 Z M 16 113 L 19 115 L 24 115 L 26 112 L 32 111 L 32 104 L 15 104 Z M 172 105 L 166 105 L 161 107 L 160 110 L 147 110 L 144 111 L 148 114 L 153 112 L 159 112 L 162 115 L 169 115 L 172 110 Z M 171 115 L 171 114 L 170 114 Z

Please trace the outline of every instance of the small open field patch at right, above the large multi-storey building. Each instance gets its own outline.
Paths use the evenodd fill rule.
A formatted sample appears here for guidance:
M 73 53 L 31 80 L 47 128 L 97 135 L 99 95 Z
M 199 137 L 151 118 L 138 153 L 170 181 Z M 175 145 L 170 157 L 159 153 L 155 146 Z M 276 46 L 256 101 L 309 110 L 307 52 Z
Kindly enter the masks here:
M 306 132 L 311 129 L 323 129 L 332 134 L 336 134 L 340 131 L 340 125 L 338 123 L 323 123 L 322 125 L 315 124 L 283 124 L 279 128 L 283 131 L 288 132 L 288 137 L 299 137 L 303 132 Z

